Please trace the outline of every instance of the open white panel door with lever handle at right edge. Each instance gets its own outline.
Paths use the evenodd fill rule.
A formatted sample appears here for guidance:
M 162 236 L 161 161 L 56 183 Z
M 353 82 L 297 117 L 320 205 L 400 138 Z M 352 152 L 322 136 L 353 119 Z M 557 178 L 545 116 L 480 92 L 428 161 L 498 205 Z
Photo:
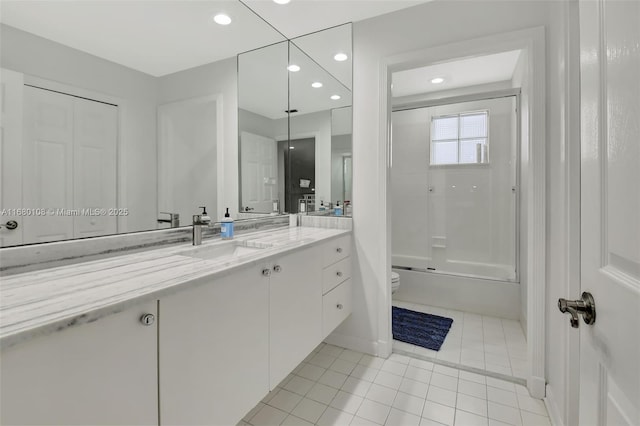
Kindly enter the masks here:
M 640 425 L 640 2 L 580 2 L 580 425 Z

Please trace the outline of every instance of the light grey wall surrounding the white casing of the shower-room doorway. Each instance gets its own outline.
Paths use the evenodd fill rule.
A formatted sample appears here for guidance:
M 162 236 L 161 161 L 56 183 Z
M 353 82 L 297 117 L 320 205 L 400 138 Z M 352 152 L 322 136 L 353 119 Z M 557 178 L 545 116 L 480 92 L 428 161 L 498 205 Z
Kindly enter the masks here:
M 388 350 L 390 336 L 389 315 L 379 318 L 379 311 L 388 309 L 387 274 L 390 270 L 390 253 L 387 252 L 387 205 L 386 199 L 386 148 L 385 134 L 380 134 L 382 61 L 384 58 L 425 49 L 438 45 L 470 40 L 477 37 L 525 28 L 545 26 L 547 28 L 547 209 L 548 215 L 547 258 L 561 259 L 566 252 L 563 237 L 566 214 L 564 184 L 560 175 L 565 170 L 562 163 L 564 132 L 560 105 L 563 103 L 561 82 L 563 26 L 562 15 L 565 2 L 539 1 L 434 1 L 401 10 L 392 14 L 368 19 L 354 24 L 354 312 L 332 336 L 331 340 L 350 347 L 383 353 Z M 559 46 L 559 47 L 556 47 Z M 558 143 L 557 141 L 562 141 Z M 552 235 L 554 232 L 555 235 Z M 565 278 L 561 260 L 553 261 L 549 268 L 547 283 L 557 286 Z M 528 283 L 547 285 L 547 283 Z M 547 292 L 547 305 L 552 313 L 551 294 Z M 551 318 L 551 317 L 554 318 Z M 547 322 L 549 327 L 552 321 Z M 565 386 L 564 351 L 559 341 L 560 327 L 547 329 L 546 356 L 549 386 L 560 400 Z M 553 331 L 552 331 L 553 330 Z M 554 373 L 554 374 L 552 374 Z M 564 401 L 558 402 L 564 406 Z

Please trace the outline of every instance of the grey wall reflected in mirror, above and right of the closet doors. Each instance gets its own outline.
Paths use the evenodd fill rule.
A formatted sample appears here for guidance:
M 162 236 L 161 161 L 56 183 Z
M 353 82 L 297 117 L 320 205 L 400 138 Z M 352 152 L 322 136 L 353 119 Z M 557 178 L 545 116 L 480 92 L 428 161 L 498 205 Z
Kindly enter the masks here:
M 119 207 L 130 212 L 123 230 L 156 229 L 156 79 L 13 27 L 0 24 L 0 31 L 3 68 L 117 98 L 126 159 Z

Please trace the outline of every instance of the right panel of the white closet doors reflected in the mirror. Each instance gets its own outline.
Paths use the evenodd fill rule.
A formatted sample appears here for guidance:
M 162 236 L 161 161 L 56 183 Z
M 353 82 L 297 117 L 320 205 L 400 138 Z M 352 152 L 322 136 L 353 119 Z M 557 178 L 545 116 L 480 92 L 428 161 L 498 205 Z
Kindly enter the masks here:
M 117 232 L 116 141 L 118 109 L 113 105 L 74 98 L 73 237 L 94 237 Z

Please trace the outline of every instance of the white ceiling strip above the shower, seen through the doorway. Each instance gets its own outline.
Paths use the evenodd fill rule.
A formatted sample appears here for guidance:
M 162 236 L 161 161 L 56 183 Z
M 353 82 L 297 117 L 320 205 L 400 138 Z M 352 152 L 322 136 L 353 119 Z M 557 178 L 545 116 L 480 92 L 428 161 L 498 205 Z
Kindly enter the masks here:
M 514 50 L 395 72 L 393 97 L 511 80 L 519 55 L 520 51 Z M 444 82 L 431 83 L 436 77 L 444 78 Z

